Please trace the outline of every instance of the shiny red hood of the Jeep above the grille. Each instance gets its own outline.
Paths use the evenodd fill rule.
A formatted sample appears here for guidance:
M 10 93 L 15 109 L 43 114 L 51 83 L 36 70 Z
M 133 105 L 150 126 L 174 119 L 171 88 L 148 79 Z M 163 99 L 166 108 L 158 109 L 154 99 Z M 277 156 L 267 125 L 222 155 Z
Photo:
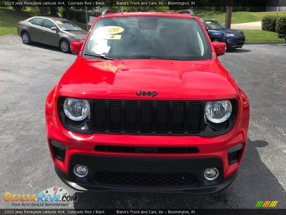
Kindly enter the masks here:
M 60 96 L 87 99 L 232 99 L 237 86 L 217 60 L 90 60 L 78 58 L 59 82 Z M 137 96 L 136 92 L 157 95 Z

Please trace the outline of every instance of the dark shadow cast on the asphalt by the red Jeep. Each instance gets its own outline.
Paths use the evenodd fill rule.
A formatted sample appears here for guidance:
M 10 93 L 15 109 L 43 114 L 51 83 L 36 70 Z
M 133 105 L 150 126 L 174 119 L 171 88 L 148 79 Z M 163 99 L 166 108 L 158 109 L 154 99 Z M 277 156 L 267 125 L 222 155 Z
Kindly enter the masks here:
M 261 161 L 257 148 L 268 143 L 251 141 L 237 178 L 225 190 L 211 195 L 76 192 L 74 208 L 255 208 L 257 201 L 278 201 L 285 208 L 284 188 Z

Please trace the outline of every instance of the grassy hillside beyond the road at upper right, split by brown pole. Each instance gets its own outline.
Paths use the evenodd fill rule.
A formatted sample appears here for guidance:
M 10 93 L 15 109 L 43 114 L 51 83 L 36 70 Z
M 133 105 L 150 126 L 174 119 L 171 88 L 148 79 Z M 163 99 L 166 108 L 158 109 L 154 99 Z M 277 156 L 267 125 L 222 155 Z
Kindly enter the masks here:
M 178 12 L 179 10 L 169 10 L 169 12 Z M 205 11 L 205 10 L 195 10 L 194 13 L 200 19 L 215 19 L 221 23 L 226 21 L 226 13 L 225 12 L 217 12 L 217 11 Z M 245 12 L 238 11 L 232 12 L 231 24 L 239 24 L 245 22 L 255 22 L 261 21 L 263 16 L 266 15 L 276 15 L 276 11 L 273 12 Z M 279 11 L 278 15 L 286 15 L 286 11 Z

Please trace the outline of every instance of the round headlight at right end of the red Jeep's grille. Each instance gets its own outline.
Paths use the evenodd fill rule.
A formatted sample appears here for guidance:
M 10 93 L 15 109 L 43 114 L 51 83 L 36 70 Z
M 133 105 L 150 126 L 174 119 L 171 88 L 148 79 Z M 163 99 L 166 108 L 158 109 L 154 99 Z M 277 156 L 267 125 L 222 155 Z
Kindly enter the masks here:
M 232 105 L 229 100 L 207 102 L 205 108 L 206 118 L 214 123 L 226 121 L 232 112 Z

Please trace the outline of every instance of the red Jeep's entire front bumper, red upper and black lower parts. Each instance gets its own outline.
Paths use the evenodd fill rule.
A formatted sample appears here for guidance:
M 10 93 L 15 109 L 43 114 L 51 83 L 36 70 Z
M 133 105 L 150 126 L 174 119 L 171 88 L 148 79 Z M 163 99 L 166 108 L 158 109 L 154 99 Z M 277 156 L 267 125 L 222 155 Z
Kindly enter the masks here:
M 237 119 L 234 128 L 223 135 L 153 136 L 124 134 L 78 134 L 63 128 L 58 116 L 46 116 L 47 138 L 55 170 L 67 185 L 77 190 L 215 193 L 235 179 L 247 143 L 248 119 Z M 53 153 L 51 140 L 65 145 L 63 162 Z M 243 144 L 237 162 L 230 164 L 228 149 Z M 96 151 L 96 145 L 138 147 L 197 147 L 197 153 L 123 153 Z M 88 176 L 75 176 L 73 168 L 85 165 Z M 206 168 L 217 168 L 213 181 L 203 177 Z M 102 184 L 94 180 L 98 171 L 124 173 L 193 173 L 197 183 L 183 186 L 155 187 Z M 181 174 L 180 174 L 181 175 Z

